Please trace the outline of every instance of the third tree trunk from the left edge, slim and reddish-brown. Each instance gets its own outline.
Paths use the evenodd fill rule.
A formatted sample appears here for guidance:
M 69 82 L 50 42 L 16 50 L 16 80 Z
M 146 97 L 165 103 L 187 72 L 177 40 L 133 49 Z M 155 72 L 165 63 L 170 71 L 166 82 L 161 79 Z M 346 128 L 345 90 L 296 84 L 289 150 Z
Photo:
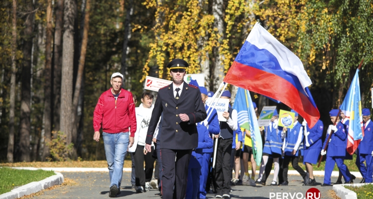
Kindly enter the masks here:
M 51 141 L 51 66 L 52 66 L 52 0 L 47 1 L 47 36 L 45 42 L 45 69 L 44 69 L 44 147 L 41 160 L 50 156 L 48 142 Z

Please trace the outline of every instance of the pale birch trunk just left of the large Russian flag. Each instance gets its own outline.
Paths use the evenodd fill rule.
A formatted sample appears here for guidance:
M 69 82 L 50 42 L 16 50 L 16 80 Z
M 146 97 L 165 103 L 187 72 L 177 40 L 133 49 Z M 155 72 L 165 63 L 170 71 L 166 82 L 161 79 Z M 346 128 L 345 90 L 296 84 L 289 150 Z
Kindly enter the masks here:
M 214 28 L 217 29 L 217 34 L 220 35 L 219 44 L 222 44 L 224 38 L 224 8 L 223 0 L 213 0 L 212 2 L 212 14 L 214 15 Z M 221 47 L 217 46 L 214 48 L 214 70 L 213 70 L 213 90 L 217 91 L 219 85 L 224 79 L 224 55 L 220 54 Z

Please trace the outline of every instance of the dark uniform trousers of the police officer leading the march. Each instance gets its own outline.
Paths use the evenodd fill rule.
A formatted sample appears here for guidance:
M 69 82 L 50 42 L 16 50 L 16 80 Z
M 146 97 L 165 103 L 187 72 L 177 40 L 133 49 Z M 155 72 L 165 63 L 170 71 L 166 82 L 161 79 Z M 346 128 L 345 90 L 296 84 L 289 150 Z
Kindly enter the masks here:
M 163 168 L 162 195 L 164 199 L 185 198 L 190 157 L 191 149 L 161 149 Z M 174 185 L 175 189 L 173 189 Z

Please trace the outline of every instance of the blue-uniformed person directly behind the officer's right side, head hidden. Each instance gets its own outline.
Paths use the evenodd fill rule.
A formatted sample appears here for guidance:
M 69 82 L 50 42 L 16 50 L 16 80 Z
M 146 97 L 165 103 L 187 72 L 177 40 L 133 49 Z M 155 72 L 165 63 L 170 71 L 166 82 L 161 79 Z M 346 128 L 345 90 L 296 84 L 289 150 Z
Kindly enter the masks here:
M 199 175 L 203 164 L 203 149 L 212 148 L 212 138 L 206 126 L 197 123 L 198 147 L 193 149 L 188 166 L 186 199 L 195 199 L 199 190 Z

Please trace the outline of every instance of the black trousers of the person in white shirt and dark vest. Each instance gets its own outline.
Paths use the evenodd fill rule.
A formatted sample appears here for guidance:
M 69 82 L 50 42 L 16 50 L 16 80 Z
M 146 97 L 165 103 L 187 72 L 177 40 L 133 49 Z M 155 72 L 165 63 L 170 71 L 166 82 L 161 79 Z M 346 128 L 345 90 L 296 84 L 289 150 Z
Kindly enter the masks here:
M 224 194 L 229 194 L 231 189 L 230 181 L 232 171 L 230 167 L 230 159 L 232 153 L 232 142 L 233 138 L 218 138 L 215 162 L 215 182 L 216 191 L 223 191 Z

